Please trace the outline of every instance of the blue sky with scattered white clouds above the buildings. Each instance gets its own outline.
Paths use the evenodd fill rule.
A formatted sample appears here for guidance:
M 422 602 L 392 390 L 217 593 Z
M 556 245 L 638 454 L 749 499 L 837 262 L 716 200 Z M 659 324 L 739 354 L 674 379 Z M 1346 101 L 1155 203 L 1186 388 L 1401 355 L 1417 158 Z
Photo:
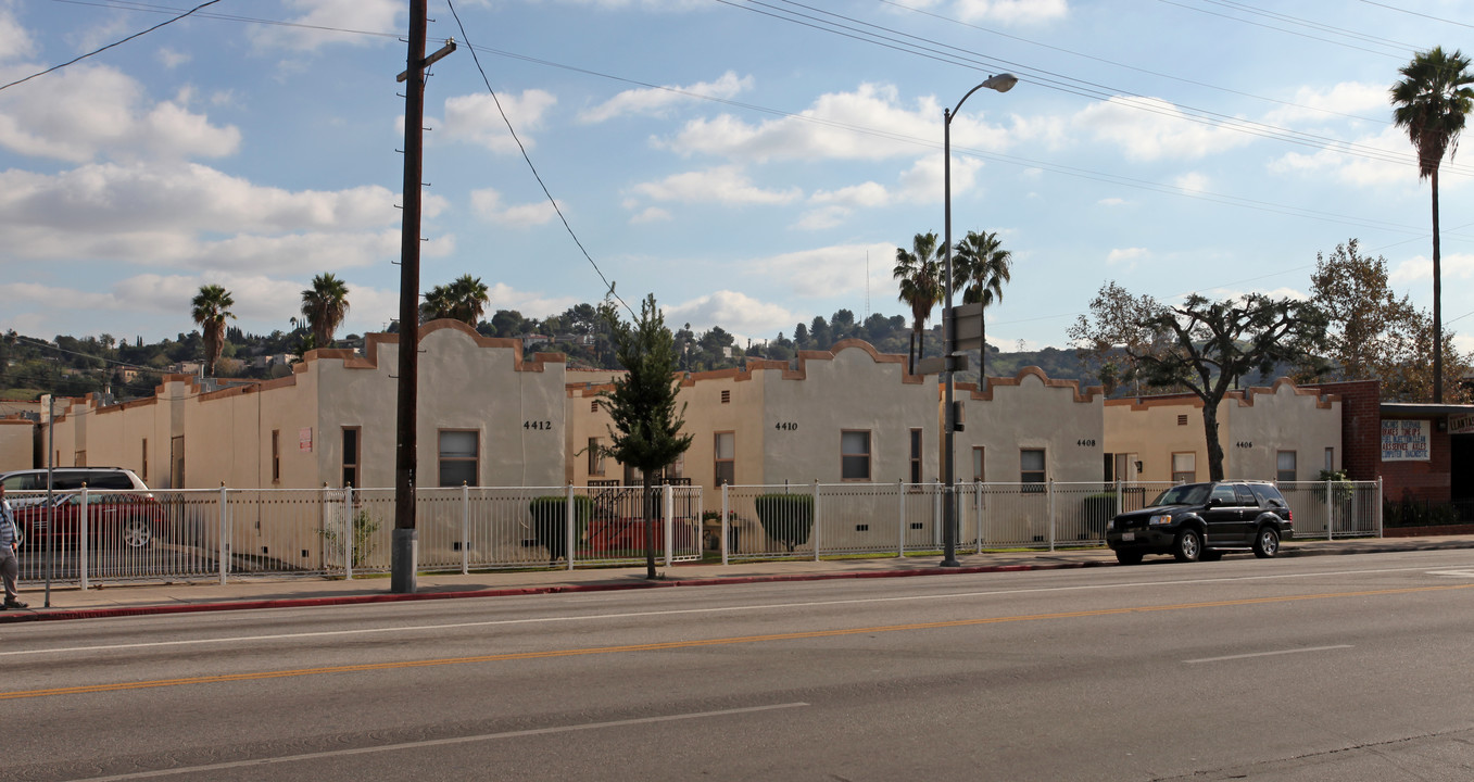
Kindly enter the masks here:
M 0 84 L 199 1 L 0 0 Z M 429 0 L 429 49 L 461 46 L 426 88 L 419 287 L 479 277 L 488 315 L 613 283 L 740 340 L 909 320 L 892 267 L 943 234 L 943 108 L 999 72 L 951 124 L 954 242 L 1014 261 L 991 343 L 1069 348 L 1110 281 L 1304 297 L 1352 239 L 1433 306 L 1430 183 L 1387 90 L 1415 52 L 1474 52 L 1464 0 L 453 1 Z M 0 90 L 0 328 L 155 342 L 220 284 L 234 325 L 286 331 L 323 272 L 339 336 L 386 328 L 408 4 L 220 0 Z M 1462 351 L 1470 156 L 1440 175 Z

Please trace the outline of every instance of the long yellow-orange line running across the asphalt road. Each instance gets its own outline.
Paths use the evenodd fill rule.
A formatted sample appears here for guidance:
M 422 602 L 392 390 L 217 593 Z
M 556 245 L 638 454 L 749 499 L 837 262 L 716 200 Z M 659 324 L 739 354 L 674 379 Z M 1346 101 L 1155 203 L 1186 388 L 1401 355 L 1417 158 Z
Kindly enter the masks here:
M 221 682 L 251 682 L 259 679 L 286 679 L 292 676 L 320 676 L 329 673 L 360 673 L 368 670 L 423 669 L 432 666 L 463 666 L 470 663 L 500 663 L 506 660 L 545 660 L 553 657 L 578 657 L 587 654 L 621 654 L 640 651 L 690 649 L 699 647 L 722 647 L 730 644 L 761 644 L 765 641 L 802 641 L 809 638 L 834 638 L 865 633 L 893 633 L 902 630 L 936 630 L 942 627 L 970 627 L 977 624 L 1002 624 L 1008 621 L 1039 621 L 1049 619 L 1083 619 L 1147 611 L 1185 611 L 1192 608 L 1226 608 L 1237 605 L 1266 605 L 1275 602 L 1297 602 L 1332 598 L 1371 598 L 1384 595 L 1411 595 L 1418 592 L 1447 592 L 1452 589 L 1474 589 L 1474 583 L 1447 586 L 1412 586 L 1403 589 L 1371 589 L 1365 592 L 1327 592 L 1318 595 L 1285 595 L 1278 598 L 1244 598 L 1209 602 L 1178 602 L 1167 605 L 1142 605 L 1136 608 L 1097 608 L 1091 611 L 1058 611 L 1051 614 L 1021 614 L 1011 617 L 957 619 L 949 621 L 914 621 L 908 624 L 881 624 L 876 627 L 845 627 L 837 630 L 806 630 L 799 633 L 744 635 L 733 638 L 709 638 L 703 641 L 666 641 L 659 644 L 629 644 L 624 647 L 590 647 L 584 649 L 548 649 L 534 652 L 482 654 L 475 657 L 442 657 L 433 660 L 404 660 L 398 663 L 364 663 L 358 666 L 324 666 L 315 669 L 264 670 L 256 673 L 226 673 L 218 676 L 186 676 L 180 679 L 155 679 L 147 682 L 118 682 L 111 685 L 81 685 L 52 689 L 24 689 L 0 692 L 0 701 L 19 698 L 44 698 L 50 695 L 84 695 L 90 692 L 116 692 L 125 689 L 147 689 L 156 686 L 212 685 Z

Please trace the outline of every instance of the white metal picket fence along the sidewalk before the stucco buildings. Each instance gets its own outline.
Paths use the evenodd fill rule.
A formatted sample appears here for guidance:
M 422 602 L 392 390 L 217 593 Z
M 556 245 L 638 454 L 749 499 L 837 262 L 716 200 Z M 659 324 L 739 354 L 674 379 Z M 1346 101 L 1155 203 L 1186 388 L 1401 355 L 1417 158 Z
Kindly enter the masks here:
M 1104 545 L 1106 523 L 1169 483 L 963 483 L 958 551 Z M 1381 535 L 1380 483 L 1281 483 L 1296 538 Z M 419 489 L 422 571 L 597 567 L 644 561 L 646 517 L 662 564 L 703 557 L 822 558 L 942 548 L 940 483 Z M 1330 498 L 1330 502 L 1327 501 Z M 391 567 L 394 489 L 12 492 L 24 582 L 345 576 Z M 87 520 L 87 535 L 81 520 Z M 47 530 L 56 529 L 56 535 Z

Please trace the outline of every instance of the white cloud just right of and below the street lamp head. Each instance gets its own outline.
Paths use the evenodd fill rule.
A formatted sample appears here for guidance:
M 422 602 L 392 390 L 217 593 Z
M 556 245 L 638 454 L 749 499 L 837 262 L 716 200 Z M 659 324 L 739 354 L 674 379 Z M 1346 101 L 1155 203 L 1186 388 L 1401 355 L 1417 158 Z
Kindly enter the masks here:
M 1119 146 L 1132 161 L 1198 159 L 1241 147 L 1251 134 L 1188 119 L 1154 97 L 1116 96 L 1072 118 L 1076 128 Z

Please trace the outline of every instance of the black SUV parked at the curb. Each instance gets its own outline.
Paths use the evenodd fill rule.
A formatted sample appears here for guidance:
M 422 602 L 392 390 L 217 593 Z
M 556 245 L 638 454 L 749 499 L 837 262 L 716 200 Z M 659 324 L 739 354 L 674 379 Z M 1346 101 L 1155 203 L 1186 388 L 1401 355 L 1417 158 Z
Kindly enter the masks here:
M 1291 538 L 1294 518 L 1284 495 L 1272 483 L 1251 480 L 1173 486 L 1150 508 L 1123 512 L 1106 527 L 1106 545 L 1120 564 L 1136 564 L 1147 554 L 1213 561 L 1234 549 L 1266 558 Z

